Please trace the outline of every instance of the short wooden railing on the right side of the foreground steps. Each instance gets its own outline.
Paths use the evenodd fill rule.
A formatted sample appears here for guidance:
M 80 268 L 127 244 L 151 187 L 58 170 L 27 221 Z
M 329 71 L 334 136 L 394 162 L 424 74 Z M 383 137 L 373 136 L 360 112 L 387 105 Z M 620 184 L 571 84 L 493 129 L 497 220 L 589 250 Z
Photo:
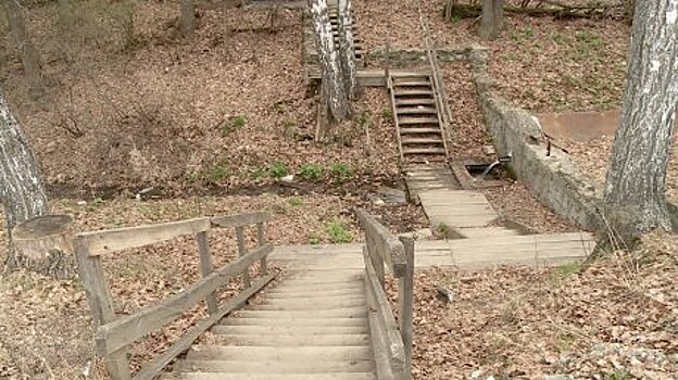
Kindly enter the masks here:
M 365 293 L 378 379 L 405 380 L 412 373 L 414 240 L 398 239 L 363 210 Z M 398 322 L 385 292 L 385 269 L 398 279 Z

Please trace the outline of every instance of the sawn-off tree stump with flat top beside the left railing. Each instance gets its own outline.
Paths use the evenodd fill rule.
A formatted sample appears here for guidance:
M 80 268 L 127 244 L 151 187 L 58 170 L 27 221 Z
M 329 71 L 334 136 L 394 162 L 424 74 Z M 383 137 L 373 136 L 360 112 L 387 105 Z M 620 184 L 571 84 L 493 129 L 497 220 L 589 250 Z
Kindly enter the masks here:
M 70 278 L 76 273 L 71 244 L 73 218 L 42 215 L 24 220 L 12 231 L 21 267 L 53 278 Z

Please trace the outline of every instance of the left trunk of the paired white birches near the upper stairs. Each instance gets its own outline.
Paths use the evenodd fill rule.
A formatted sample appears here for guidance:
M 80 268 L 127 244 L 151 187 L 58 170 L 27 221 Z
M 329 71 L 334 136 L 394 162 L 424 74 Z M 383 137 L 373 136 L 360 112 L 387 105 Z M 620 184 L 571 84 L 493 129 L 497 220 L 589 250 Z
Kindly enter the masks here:
M 339 123 L 349 115 L 349 102 L 346 87 L 342 83 L 341 64 L 335 49 L 335 39 L 329 25 L 327 14 L 327 0 L 313 0 L 311 15 L 316 35 L 316 46 L 318 50 L 318 64 L 323 77 L 321 92 L 322 106 L 327 107 L 328 122 Z M 328 125 L 322 129 L 325 135 Z

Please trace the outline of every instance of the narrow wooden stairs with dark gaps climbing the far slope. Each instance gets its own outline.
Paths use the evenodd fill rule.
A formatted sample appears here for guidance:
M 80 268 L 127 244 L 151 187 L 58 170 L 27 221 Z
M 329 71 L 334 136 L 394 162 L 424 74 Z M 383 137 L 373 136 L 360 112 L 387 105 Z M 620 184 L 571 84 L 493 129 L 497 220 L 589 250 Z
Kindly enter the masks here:
M 401 162 L 444 162 L 448 149 L 431 75 L 389 72 L 387 86 Z

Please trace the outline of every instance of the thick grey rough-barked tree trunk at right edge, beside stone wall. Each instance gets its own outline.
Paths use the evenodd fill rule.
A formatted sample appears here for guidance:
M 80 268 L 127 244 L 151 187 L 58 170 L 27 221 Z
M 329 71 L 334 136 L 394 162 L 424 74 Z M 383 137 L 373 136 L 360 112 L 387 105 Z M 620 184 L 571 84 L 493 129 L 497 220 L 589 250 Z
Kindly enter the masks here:
M 627 244 L 670 229 L 665 199 L 678 103 L 678 0 L 636 4 L 622 123 L 605 187 L 605 217 Z

